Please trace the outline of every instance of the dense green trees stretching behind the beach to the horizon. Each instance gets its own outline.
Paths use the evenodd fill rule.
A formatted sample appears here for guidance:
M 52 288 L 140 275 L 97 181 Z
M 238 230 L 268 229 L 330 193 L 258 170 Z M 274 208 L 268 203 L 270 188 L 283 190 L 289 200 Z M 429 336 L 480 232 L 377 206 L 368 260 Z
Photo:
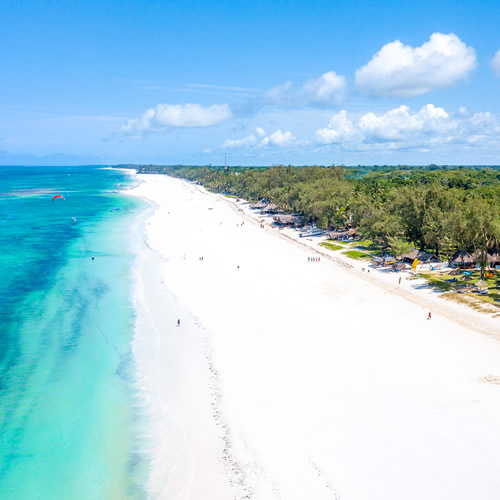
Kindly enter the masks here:
M 272 200 L 319 227 L 352 226 L 395 253 L 427 249 L 446 259 L 456 251 L 500 247 L 498 167 L 270 167 L 141 166 L 249 200 Z

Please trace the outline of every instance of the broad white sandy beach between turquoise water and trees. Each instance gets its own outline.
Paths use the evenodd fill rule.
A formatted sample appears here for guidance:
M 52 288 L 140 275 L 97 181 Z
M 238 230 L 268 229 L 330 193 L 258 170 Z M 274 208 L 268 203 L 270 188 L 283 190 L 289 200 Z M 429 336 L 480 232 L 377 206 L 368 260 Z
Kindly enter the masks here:
M 308 262 L 234 203 L 140 177 L 151 497 L 500 497 L 498 320 Z

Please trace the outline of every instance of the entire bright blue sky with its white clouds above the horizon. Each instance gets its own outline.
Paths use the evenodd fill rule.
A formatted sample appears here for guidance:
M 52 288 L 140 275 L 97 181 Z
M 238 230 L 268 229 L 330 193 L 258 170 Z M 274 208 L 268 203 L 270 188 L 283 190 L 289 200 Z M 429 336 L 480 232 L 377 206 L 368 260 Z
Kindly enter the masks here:
M 0 164 L 499 164 L 498 1 L 0 4 Z

